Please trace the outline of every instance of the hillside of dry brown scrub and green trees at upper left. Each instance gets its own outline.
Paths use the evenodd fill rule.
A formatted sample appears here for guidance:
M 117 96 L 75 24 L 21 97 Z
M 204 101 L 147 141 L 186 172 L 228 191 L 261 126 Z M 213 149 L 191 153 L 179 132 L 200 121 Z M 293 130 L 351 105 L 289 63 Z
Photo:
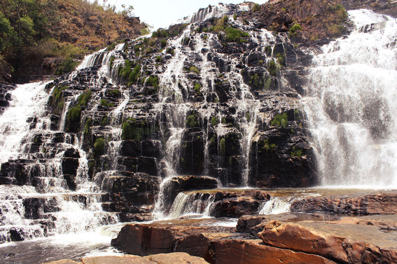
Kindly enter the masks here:
M 63 74 L 84 54 L 119 38 L 134 38 L 147 25 L 132 17 L 133 7 L 88 0 L 3 0 L 0 2 L 0 81 L 37 74 Z M 45 67 L 47 66 L 47 68 Z M 60 68 L 62 67 L 62 68 Z

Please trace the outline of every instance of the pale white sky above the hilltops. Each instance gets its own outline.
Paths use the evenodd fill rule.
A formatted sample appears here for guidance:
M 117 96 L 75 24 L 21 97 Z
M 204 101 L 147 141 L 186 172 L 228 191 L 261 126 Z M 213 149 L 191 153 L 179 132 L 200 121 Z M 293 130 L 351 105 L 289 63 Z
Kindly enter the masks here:
M 224 0 L 223 3 L 241 3 L 244 0 Z M 267 0 L 251 0 L 256 3 L 265 3 Z M 99 0 L 101 3 L 101 0 Z M 175 23 L 178 19 L 192 15 L 201 7 L 208 4 L 217 5 L 220 0 L 108 0 L 110 4 L 120 7 L 132 5 L 135 16 L 140 17 L 140 21 L 153 26 L 154 29 L 166 28 Z M 119 9 L 120 10 L 120 9 Z

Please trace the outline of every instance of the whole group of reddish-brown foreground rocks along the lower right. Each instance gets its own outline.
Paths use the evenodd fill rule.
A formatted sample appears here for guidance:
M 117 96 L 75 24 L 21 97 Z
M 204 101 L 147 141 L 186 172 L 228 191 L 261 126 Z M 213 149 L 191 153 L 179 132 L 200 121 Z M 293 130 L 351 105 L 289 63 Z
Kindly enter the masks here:
M 238 230 L 246 232 L 259 222 L 261 239 L 211 226 L 212 220 L 206 219 L 128 224 L 112 245 L 140 256 L 186 252 L 209 263 L 394 263 L 396 217 L 308 213 L 242 217 Z

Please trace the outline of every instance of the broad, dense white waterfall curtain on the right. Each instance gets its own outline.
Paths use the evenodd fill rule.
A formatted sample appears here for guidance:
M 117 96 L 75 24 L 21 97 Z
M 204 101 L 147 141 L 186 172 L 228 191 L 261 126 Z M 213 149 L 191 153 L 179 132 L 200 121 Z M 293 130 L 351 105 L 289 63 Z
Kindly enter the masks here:
M 397 188 L 397 22 L 369 10 L 349 15 L 356 30 L 314 56 L 302 100 L 319 178 Z

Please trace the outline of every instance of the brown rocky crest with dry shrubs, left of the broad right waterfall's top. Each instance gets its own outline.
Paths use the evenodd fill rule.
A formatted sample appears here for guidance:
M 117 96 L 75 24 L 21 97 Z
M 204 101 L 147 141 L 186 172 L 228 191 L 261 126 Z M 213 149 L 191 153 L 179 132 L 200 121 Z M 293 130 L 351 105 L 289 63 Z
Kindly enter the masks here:
M 340 37 L 347 33 L 347 13 L 336 0 L 270 0 L 260 10 L 250 10 L 243 17 L 276 32 L 287 32 L 292 41 L 313 42 Z M 293 28 L 300 25 L 300 28 Z

